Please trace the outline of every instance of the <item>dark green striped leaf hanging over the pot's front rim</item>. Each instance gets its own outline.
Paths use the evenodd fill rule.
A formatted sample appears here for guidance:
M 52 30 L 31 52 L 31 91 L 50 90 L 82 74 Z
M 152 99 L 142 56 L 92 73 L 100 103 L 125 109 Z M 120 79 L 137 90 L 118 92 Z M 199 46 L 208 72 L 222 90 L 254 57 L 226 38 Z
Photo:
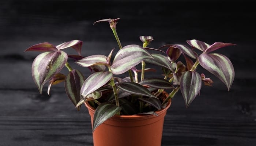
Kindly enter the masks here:
M 100 104 L 94 112 L 93 132 L 100 124 L 102 124 L 112 116 L 116 115 L 121 110 L 122 110 L 121 107 L 118 107 L 114 104 L 110 104 L 110 103 Z

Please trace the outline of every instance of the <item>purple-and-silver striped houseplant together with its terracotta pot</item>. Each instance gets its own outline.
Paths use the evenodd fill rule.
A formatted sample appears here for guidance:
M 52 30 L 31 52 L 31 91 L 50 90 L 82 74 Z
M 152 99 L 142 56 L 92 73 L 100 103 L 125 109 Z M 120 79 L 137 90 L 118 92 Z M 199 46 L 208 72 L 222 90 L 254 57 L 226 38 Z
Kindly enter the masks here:
M 83 42 L 79 40 L 57 46 L 47 42 L 39 43 L 25 50 L 43 52 L 33 61 L 33 80 L 40 93 L 42 93 L 44 84 L 49 81 L 48 94 L 52 85 L 65 81 L 65 91 L 75 107 L 80 110 L 81 104 L 85 103 L 89 109 L 95 146 L 161 145 L 163 118 L 174 95 L 181 91 L 185 106 L 188 107 L 199 94 L 202 82 L 209 86 L 213 83 L 203 73 L 196 72 L 199 64 L 217 76 L 228 90 L 230 89 L 234 80 L 234 68 L 231 61 L 225 55 L 211 52 L 235 44 L 215 42 L 208 45 L 193 39 L 187 41 L 193 49 L 185 45 L 164 45 L 159 49 L 153 49 L 147 47 L 153 41 L 153 37 L 141 36 L 143 46 L 122 47 L 116 32 L 117 20 L 103 19 L 95 22 L 110 24 L 120 47 L 113 61 L 113 49 L 108 56 L 81 56 Z M 62 49 L 68 47 L 74 48 L 78 55 L 67 55 Z M 167 50 L 162 51 L 163 48 Z M 201 54 L 197 54 L 195 49 L 198 49 Z M 154 53 L 149 53 L 148 50 Z M 185 58 L 184 64 L 178 61 L 180 56 Z M 68 57 L 75 59 L 76 64 L 89 68 L 92 74 L 85 78 L 82 72 L 72 69 L 67 62 Z M 163 77 L 145 78 L 145 72 L 156 71 L 146 68 L 146 63 L 161 68 L 161 71 L 157 73 L 162 74 Z M 140 70 L 137 69 L 139 64 L 142 66 Z M 64 66 L 69 70 L 67 75 L 60 73 Z M 129 73 L 129 77 L 116 77 L 126 72 Z M 141 75 L 140 78 L 138 74 Z M 159 119 L 155 119 L 158 117 Z M 152 119 L 154 119 L 153 122 L 147 122 Z M 112 127 L 115 127 L 112 122 L 118 124 L 117 131 L 112 131 Z M 133 126 L 131 123 L 138 125 Z M 156 125 L 158 123 L 161 124 L 159 127 Z M 135 132 L 134 127 L 142 127 L 142 132 Z M 99 134 L 102 131 L 103 133 Z M 121 138 L 128 138 L 128 140 Z M 146 138 L 152 141 L 144 140 Z M 110 142 L 105 141 L 109 139 Z

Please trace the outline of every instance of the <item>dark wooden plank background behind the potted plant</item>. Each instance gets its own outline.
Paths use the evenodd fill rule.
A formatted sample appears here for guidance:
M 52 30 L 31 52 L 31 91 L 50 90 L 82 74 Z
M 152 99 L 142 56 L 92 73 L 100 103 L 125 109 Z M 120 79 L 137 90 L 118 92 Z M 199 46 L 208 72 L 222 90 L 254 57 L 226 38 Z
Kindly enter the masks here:
M 117 31 L 123 46 L 141 45 L 140 35 L 153 36 L 150 47 L 156 48 L 186 44 L 187 39 L 236 43 L 216 51 L 233 62 L 236 76 L 231 90 L 199 68 L 214 80 L 214 87 L 203 87 L 188 109 L 180 93 L 174 97 L 162 146 L 255 146 L 254 6 L 244 0 L 0 1 L 0 146 L 93 145 L 87 109 L 76 111 L 63 84 L 53 86 L 51 96 L 45 86 L 40 95 L 31 77 L 38 53 L 23 51 L 36 43 L 58 45 L 80 39 L 83 56 L 108 55 L 118 48 L 108 24 L 93 26 L 105 18 L 121 18 Z M 79 69 L 85 76 L 90 73 Z

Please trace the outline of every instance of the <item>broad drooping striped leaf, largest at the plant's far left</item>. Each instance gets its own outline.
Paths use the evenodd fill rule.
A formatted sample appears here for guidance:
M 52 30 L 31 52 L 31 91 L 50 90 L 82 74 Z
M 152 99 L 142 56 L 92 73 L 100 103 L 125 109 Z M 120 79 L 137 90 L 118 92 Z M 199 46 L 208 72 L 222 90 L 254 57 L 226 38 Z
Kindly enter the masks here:
M 63 51 L 44 52 L 39 54 L 32 64 L 32 77 L 42 94 L 45 82 L 59 73 L 67 62 L 68 55 Z

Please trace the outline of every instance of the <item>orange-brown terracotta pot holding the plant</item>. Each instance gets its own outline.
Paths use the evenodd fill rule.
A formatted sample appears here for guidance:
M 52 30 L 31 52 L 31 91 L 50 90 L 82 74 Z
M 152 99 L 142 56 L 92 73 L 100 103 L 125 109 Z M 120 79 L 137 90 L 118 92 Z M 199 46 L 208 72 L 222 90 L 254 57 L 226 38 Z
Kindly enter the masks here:
M 168 95 L 168 94 L 167 94 Z M 171 100 L 165 109 L 155 115 L 113 116 L 93 132 L 94 146 L 161 146 L 163 120 Z M 85 103 L 93 123 L 95 109 Z

